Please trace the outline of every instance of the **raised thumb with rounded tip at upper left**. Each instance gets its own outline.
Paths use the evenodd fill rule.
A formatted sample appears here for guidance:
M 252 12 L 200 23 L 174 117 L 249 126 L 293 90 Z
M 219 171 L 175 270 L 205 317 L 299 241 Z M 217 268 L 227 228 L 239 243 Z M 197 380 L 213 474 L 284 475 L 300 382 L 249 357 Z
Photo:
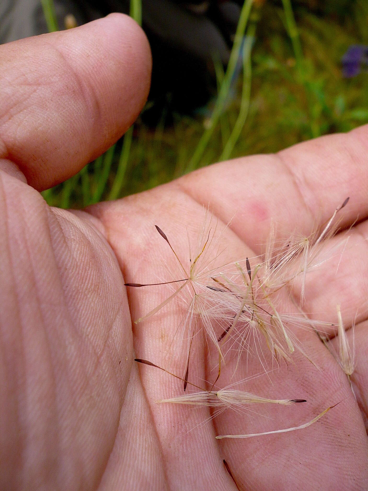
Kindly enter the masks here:
M 5 44 L 0 60 L 0 158 L 38 190 L 103 153 L 148 95 L 148 41 L 122 14 Z

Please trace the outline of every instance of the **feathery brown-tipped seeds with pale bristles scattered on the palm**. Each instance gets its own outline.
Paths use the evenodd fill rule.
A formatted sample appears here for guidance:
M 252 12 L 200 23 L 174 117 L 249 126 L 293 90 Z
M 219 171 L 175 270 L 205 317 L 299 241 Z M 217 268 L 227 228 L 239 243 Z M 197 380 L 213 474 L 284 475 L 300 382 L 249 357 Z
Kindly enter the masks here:
M 158 314 L 162 308 L 175 298 L 183 302 L 184 315 L 176 329 L 172 345 L 185 356 L 185 370 L 178 375 L 162 368 L 152 361 L 136 359 L 137 362 L 163 370 L 183 382 L 183 392 L 159 403 L 185 404 L 192 406 L 208 406 L 213 408 L 213 416 L 225 409 L 238 410 L 252 404 L 292 405 L 306 402 L 304 399 L 269 399 L 234 388 L 243 382 L 217 389 L 216 382 L 221 376 L 221 366 L 227 358 L 236 359 L 234 374 L 243 357 L 256 355 L 261 361 L 265 373 L 268 364 L 262 347 L 266 346 L 276 368 L 282 361 L 292 363 L 295 351 L 306 356 L 314 364 L 313 357 L 304 349 L 302 343 L 289 329 L 289 324 L 305 329 L 314 330 L 321 341 L 329 348 L 323 329 L 333 326 L 332 323 L 311 319 L 303 311 L 306 292 L 307 274 L 316 270 L 331 257 L 325 255 L 325 241 L 336 234 L 339 228 L 338 213 L 347 204 L 348 198 L 336 208 L 331 218 L 324 224 L 322 230 L 315 230 L 309 237 L 293 233 L 285 241 L 277 241 L 274 227 L 271 226 L 269 239 L 263 257 L 245 258 L 221 264 L 218 224 L 209 218 L 208 210 L 203 225 L 198 234 L 194 248 L 189 242 L 189 268 L 171 246 L 165 233 L 156 226 L 162 239 L 170 247 L 180 268 L 180 277 L 159 283 L 126 283 L 132 288 L 170 285 L 174 291 L 162 303 L 156 306 L 144 317 L 137 319 L 136 324 L 147 321 Z M 336 253 L 341 253 L 341 247 L 346 245 L 346 238 L 336 246 Z M 340 249 L 340 252 L 339 252 Z M 299 298 L 295 300 L 291 291 L 298 284 Z M 285 301 L 287 299 L 287 302 Z M 292 300 L 292 301 L 291 301 Z M 292 305 L 292 311 L 285 310 L 285 305 Z M 354 371 L 353 347 L 349 346 L 340 307 L 337 306 L 338 335 L 340 339 L 339 353 L 333 352 L 342 369 L 350 378 Z M 210 388 L 190 382 L 190 357 L 193 340 L 202 332 L 209 349 L 213 348 L 218 354 L 218 371 L 213 382 L 208 382 Z M 210 351 L 210 350 L 209 350 Z M 274 367 L 272 367 L 273 369 Z M 187 391 L 187 385 L 195 391 Z M 263 432 L 248 435 L 218 435 L 216 438 L 247 438 L 251 436 L 284 433 L 310 426 L 321 418 L 330 406 L 316 415 L 312 420 L 296 427 L 285 428 L 273 432 Z M 224 462 L 225 466 L 227 464 Z M 228 466 L 226 467 L 228 468 Z M 230 470 L 228 470 L 230 473 Z

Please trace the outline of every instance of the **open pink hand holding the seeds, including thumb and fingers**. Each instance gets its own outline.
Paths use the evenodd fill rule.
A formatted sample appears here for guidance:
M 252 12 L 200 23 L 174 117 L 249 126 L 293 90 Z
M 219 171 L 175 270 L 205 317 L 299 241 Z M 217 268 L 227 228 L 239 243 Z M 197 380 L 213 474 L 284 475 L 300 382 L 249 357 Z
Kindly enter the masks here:
M 147 40 L 115 14 L 3 45 L 0 60 L 0 489 L 235 490 L 223 459 L 242 490 L 367 489 L 368 127 L 213 165 L 84 212 L 51 209 L 38 191 L 107 149 L 143 106 Z M 296 355 L 273 385 L 259 377 L 246 390 L 307 403 L 226 411 L 199 427 L 209 409 L 155 404 L 180 394 L 181 383 L 133 358 L 163 364 L 179 317 L 167 308 L 132 328 L 168 289 L 124 287 L 166 274 L 162 258 L 175 265 L 154 225 L 186 260 L 183 225 L 193 236 L 210 204 L 220 224 L 232 218 L 226 254 L 252 257 L 271 219 L 282 236 L 308 233 L 347 196 L 344 226 L 359 216 L 352 247 L 338 275 L 326 267 L 311 277 L 305 308 L 334 321 L 341 303 L 346 327 L 358 311 L 358 402 L 317 336 L 299 332 L 322 371 Z M 213 380 L 207 359 L 198 337 L 192 380 Z M 171 369 L 181 373 L 182 360 Z M 248 374 L 257 371 L 252 359 Z M 220 386 L 231 375 L 229 363 Z M 340 401 L 298 432 L 215 439 L 295 426 Z

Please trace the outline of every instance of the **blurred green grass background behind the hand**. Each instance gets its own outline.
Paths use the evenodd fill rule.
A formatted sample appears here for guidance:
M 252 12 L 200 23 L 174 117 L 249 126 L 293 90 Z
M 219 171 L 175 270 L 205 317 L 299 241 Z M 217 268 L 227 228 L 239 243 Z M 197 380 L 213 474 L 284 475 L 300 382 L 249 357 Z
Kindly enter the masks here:
M 126 196 L 227 158 L 367 123 L 368 73 L 344 79 L 341 58 L 350 45 L 368 45 L 368 2 L 320 1 L 318 10 L 310 3 L 246 0 L 225 72 L 214 58 L 217 97 L 196 117 L 170 115 L 170 125 L 165 110 L 156 128 L 138 118 L 103 156 L 44 191 L 48 203 L 77 208 Z M 56 30 L 52 0 L 42 4 Z M 140 23 L 140 0 L 131 0 L 131 15 Z

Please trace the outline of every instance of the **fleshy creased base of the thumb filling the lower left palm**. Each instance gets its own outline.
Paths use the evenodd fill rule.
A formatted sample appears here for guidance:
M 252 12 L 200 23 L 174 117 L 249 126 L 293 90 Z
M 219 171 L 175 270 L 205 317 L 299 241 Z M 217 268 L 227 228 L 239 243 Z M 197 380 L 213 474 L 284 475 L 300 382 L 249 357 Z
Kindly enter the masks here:
M 95 489 L 113 447 L 131 322 L 85 216 L 0 172 L 0 489 Z

